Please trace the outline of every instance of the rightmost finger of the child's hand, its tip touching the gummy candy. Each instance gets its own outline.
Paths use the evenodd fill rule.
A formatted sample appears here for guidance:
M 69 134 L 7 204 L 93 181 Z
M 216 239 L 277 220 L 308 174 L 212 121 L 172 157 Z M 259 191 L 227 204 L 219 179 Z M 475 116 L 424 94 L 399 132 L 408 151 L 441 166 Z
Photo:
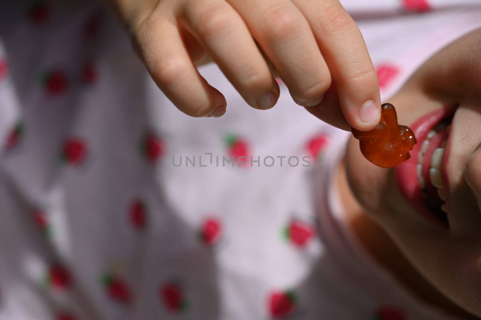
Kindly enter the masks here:
M 338 0 L 293 1 L 311 24 L 346 120 L 361 131 L 374 128 L 380 121 L 378 78 L 354 20 Z

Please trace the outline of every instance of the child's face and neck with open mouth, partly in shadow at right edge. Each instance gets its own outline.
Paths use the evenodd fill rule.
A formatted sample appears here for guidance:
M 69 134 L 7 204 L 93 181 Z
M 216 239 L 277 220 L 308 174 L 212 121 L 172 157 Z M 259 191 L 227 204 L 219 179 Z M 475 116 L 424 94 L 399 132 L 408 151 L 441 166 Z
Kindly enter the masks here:
M 389 102 L 396 107 L 399 123 L 408 126 L 428 114 L 435 118 L 445 106 L 458 105 L 440 169 L 448 212 L 443 214 L 439 206 L 428 209 L 443 203 L 439 196 L 421 197 L 416 169 L 419 148 L 411 152 L 411 167 L 402 164 L 388 170 L 364 159 L 352 138 L 346 168 L 354 196 L 418 271 L 444 295 L 481 316 L 481 31 L 432 57 Z M 424 118 L 421 124 L 433 128 L 439 120 L 430 123 Z M 412 127 L 419 147 L 429 131 L 422 125 Z M 430 143 L 438 148 L 444 140 L 438 137 Z M 422 162 L 422 168 L 430 165 L 429 160 Z M 425 188 L 436 194 L 429 173 L 427 177 Z M 420 203 L 413 200 L 416 197 Z M 449 226 L 436 215 L 444 215 Z

